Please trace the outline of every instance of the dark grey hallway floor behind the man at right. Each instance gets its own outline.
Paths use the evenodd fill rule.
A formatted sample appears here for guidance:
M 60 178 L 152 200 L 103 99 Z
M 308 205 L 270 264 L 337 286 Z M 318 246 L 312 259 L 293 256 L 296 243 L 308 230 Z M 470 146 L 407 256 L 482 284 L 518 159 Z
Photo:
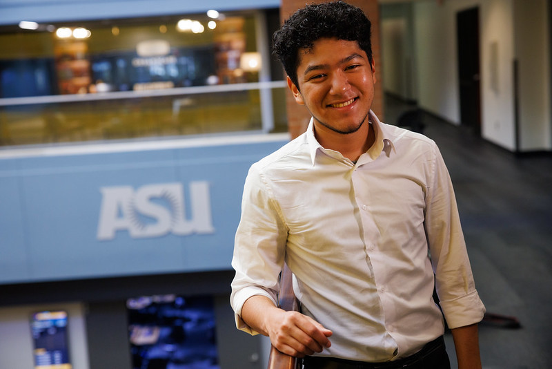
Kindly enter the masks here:
M 386 122 L 412 108 L 386 97 Z M 552 155 L 514 155 L 423 114 L 449 167 L 477 290 L 521 328 L 480 324 L 485 369 L 552 368 Z M 447 349 L 455 363 L 453 341 Z

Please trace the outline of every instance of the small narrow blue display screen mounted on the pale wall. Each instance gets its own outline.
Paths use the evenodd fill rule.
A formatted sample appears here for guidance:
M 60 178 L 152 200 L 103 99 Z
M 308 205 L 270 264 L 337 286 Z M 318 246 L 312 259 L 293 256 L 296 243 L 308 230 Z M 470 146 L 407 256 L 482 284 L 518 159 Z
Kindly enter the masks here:
M 71 369 L 67 339 L 67 312 L 44 311 L 32 315 L 35 369 Z

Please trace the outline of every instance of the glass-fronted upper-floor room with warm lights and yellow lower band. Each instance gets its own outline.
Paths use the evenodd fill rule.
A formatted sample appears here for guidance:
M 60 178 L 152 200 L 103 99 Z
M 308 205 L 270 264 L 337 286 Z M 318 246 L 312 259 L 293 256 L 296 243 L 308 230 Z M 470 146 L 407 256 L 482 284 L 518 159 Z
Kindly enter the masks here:
M 268 52 L 277 19 L 0 28 L 0 146 L 286 131 L 285 83 Z

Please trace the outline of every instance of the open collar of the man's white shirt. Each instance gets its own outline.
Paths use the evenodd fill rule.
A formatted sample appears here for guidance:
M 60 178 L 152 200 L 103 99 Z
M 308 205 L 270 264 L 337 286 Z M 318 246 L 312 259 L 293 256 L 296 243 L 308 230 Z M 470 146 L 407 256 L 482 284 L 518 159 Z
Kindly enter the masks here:
M 373 113 L 373 111 L 370 111 L 368 113 L 368 120 L 372 124 L 374 133 L 375 133 L 375 142 L 374 144 L 366 151 L 366 154 L 372 159 L 375 160 L 378 156 L 382 154 L 382 151 L 385 152 L 387 157 L 391 155 L 391 151 L 395 151 L 395 145 L 393 144 L 393 141 L 388 138 L 388 135 L 385 132 L 384 125 L 378 117 Z M 315 159 L 316 159 L 316 153 L 317 151 L 324 151 L 324 147 L 322 147 L 319 142 L 315 138 L 315 126 L 314 126 L 314 118 L 311 117 L 311 122 L 308 123 L 308 128 L 306 129 L 306 140 L 308 142 L 308 149 L 311 153 L 311 160 L 313 162 L 313 167 L 315 166 Z

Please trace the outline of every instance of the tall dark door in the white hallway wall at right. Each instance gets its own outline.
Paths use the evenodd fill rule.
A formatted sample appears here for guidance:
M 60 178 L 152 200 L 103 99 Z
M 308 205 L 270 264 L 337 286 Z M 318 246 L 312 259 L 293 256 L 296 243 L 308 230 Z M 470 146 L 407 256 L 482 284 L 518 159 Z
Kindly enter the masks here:
M 479 63 L 479 8 L 457 12 L 458 78 L 460 82 L 460 122 L 481 135 L 481 95 Z

